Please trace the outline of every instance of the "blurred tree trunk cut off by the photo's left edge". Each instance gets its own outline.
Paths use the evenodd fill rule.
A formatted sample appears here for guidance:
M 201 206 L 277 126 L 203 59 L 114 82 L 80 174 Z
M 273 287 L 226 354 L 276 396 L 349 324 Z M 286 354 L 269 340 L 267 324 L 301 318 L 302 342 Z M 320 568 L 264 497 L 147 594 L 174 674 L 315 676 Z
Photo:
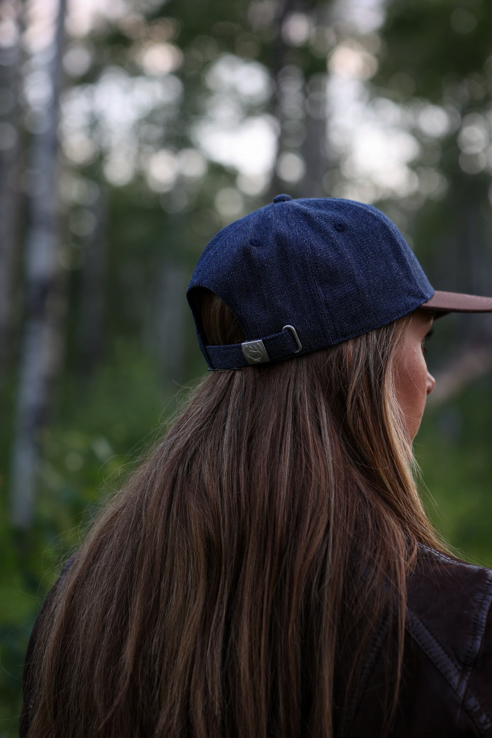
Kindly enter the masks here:
M 21 62 L 21 10 L 19 0 L 6 2 L 15 19 L 16 38 L 0 47 L 0 380 L 10 354 L 12 283 L 19 206 L 19 66 Z

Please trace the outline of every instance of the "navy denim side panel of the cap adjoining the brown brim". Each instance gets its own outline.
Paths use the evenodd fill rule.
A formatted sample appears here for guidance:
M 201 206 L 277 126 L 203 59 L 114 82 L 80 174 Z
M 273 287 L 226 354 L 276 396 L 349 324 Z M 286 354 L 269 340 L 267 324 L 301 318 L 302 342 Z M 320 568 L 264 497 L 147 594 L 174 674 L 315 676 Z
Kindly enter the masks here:
M 313 237 L 312 283 L 330 323 L 330 344 L 391 323 L 431 297 L 412 249 L 378 210 L 342 199 L 297 203 Z

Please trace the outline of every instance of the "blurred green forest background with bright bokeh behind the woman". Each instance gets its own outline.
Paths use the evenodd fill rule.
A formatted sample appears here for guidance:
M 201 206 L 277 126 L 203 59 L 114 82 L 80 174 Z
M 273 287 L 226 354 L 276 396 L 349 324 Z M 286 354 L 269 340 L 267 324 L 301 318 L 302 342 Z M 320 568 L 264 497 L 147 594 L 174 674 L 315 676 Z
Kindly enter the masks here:
M 209 238 L 360 199 L 437 289 L 492 294 L 491 102 L 486 0 L 0 0 L 0 736 L 60 561 L 204 373 Z M 492 565 L 492 317 L 428 359 L 422 494 Z

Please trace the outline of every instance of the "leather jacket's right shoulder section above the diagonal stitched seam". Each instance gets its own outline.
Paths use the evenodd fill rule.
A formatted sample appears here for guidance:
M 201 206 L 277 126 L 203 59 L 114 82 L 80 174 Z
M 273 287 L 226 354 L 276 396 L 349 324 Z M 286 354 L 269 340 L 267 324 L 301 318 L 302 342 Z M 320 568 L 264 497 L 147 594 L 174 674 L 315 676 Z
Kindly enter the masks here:
M 479 735 L 492 735 L 492 570 L 420 546 L 406 630 Z

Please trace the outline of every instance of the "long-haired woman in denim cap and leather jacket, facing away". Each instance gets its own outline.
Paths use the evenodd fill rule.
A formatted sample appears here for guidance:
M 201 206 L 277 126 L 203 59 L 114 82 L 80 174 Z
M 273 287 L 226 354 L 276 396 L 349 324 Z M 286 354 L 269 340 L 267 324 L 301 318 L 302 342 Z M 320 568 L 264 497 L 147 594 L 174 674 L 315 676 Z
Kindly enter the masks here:
M 212 372 L 44 604 L 29 737 L 488 736 L 492 572 L 412 477 L 434 292 L 374 207 L 230 224 L 188 300 Z M 172 347 L 170 347 L 172 350 Z

